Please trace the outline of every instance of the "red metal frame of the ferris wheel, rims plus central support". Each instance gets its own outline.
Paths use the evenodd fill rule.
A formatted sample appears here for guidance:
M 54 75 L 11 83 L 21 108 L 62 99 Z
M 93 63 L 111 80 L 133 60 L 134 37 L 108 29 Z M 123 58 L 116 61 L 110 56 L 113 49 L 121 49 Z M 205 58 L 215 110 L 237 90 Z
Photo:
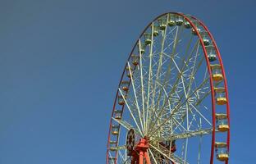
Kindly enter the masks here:
M 159 17 L 165 16 L 167 14 L 176 14 L 176 15 L 182 16 L 182 17 L 185 18 L 186 21 L 190 22 L 190 25 L 195 30 L 196 34 L 199 36 L 199 40 L 200 40 L 201 45 L 203 45 L 203 39 L 200 36 L 199 31 L 197 30 L 196 26 L 193 24 L 192 21 L 190 21 L 190 18 L 188 18 L 187 16 L 185 16 L 182 13 L 177 13 L 177 12 L 163 13 L 162 15 L 156 17 L 153 21 L 156 21 L 156 20 L 158 20 Z M 193 18 L 196 21 L 199 21 L 194 16 L 191 16 L 191 18 Z M 149 26 L 152 24 L 153 21 L 151 21 L 149 23 L 149 25 L 147 25 L 144 28 L 142 33 L 139 35 L 139 38 L 141 38 L 141 36 L 144 34 L 144 31 L 146 31 L 149 28 Z M 216 44 L 215 40 L 213 39 L 213 35 L 210 33 L 210 31 L 208 30 L 206 25 L 203 24 L 202 21 L 199 21 L 199 23 L 200 23 L 201 26 L 203 26 L 204 30 L 206 30 L 208 32 L 208 35 L 212 39 L 213 46 L 214 46 L 214 48 L 216 49 L 216 52 L 217 52 L 217 58 L 218 58 L 218 60 L 220 62 L 221 68 L 222 68 L 222 75 L 223 75 L 223 80 L 224 80 L 224 85 L 225 85 L 225 92 L 226 92 L 226 100 L 227 100 L 227 103 L 226 103 L 226 115 L 227 115 L 228 125 L 230 126 L 230 106 L 229 106 L 228 90 L 227 90 L 227 84 L 226 84 L 226 74 L 225 74 L 224 67 L 223 67 L 223 64 L 222 64 L 222 57 L 221 57 L 220 52 L 219 52 L 219 50 L 217 48 L 217 44 Z M 132 48 L 132 50 L 130 52 L 130 55 L 129 55 L 128 59 L 127 59 L 127 62 L 130 60 L 131 54 L 132 54 L 132 52 L 134 52 L 138 42 L 139 42 L 139 39 L 137 39 L 137 41 L 135 42 L 135 45 L 134 45 L 134 47 Z M 216 119 L 215 119 L 215 106 L 216 106 L 216 103 L 215 103 L 215 93 L 214 93 L 214 85 L 213 85 L 213 78 L 212 78 L 213 74 L 212 74 L 212 71 L 211 71 L 210 62 L 208 61 L 208 53 L 207 53 L 206 48 L 204 46 L 202 46 L 202 48 L 203 48 L 204 57 L 205 57 L 205 60 L 206 60 L 206 63 L 207 63 L 208 74 L 210 76 L 209 80 L 210 80 L 210 88 L 211 88 L 211 96 L 212 96 L 213 134 L 212 134 L 212 147 L 211 147 L 210 164 L 213 164 L 213 161 L 214 161 L 214 144 L 215 144 L 215 125 L 216 125 Z M 124 77 L 124 75 L 126 73 L 127 62 L 126 62 L 126 66 L 125 66 L 125 68 L 124 68 L 124 70 L 122 72 L 121 80 L 119 81 L 118 88 L 120 87 L 121 81 L 123 80 L 123 77 Z M 129 86 L 130 86 L 130 84 L 129 84 Z M 112 117 L 114 116 L 114 111 L 116 109 L 118 93 L 119 93 L 119 91 L 117 89 L 116 98 L 115 98 L 115 101 L 114 101 L 114 104 L 113 104 L 113 108 L 112 108 Z M 123 109 L 124 109 L 124 106 L 122 106 L 121 110 L 123 111 Z M 109 142 L 110 142 L 111 131 L 112 131 L 112 118 L 110 120 L 109 131 L 108 131 L 108 138 L 107 138 L 107 158 L 106 158 L 106 163 L 107 164 L 108 164 L 108 151 L 109 151 Z M 117 143 L 118 143 L 118 140 L 119 140 L 119 138 L 117 138 Z M 229 147 L 230 147 L 230 130 L 228 130 L 228 132 L 227 132 L 227 140 L 226 140 L 226 142 L 227 142 L 227 150 L 229 151 Z M 136 150 L 139 151 L 139 164 L 143 163 L 143 158 L 146 159 L 147 164 L 150 164 L 149 154 L 147 153 L 147 151 L 144 151 L 144 146 L 145 146 L 145 140 L 144 139 L 140 139 L 139 144 L 137 144 L 137 146 L 135 147 Z M 116 152 L 116 157 L 117 157 L 117 152 Z M 135 155 L 134 155 L 134 157 L 135 157 Z M 138 159 L 138 157 L 137 158 L 135 157 L 135 159 Z M 136 162 L 136 160 L 134 162 Z M 115 160 L 115 164 L 117 164 L 117 158 Z M 133 164 L 133 162 L 132 162 L 132 164 Z M 226 161 L 226 164 L 228 164 L 228 161 Z

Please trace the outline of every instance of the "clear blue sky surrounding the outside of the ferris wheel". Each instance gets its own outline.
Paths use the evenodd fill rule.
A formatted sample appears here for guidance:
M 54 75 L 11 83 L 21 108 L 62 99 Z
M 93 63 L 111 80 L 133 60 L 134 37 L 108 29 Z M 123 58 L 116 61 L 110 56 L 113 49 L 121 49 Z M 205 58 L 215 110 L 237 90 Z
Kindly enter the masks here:
M 199 17 L 222 53 L 231 164 L 254 163 L 254 0 L 0 0 L 0 164 L 101 164 L 117 84 L 144 26 Z

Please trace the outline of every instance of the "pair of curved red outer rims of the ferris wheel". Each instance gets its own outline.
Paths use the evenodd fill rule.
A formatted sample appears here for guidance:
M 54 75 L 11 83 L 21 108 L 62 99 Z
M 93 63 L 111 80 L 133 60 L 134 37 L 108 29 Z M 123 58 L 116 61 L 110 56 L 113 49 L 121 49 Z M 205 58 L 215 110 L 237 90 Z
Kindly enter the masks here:
M 158 18 L 162 17 L 162 16 L 165 16 L 167 14 L 176 14 L 176 15 L 179 15 L 179 16 L 182 16 L 186 21 L 190 22 L 190 25 L 192 26 L 192 28 L 195 30 L 196 34 L 199 36 L 199 42 L 200 42 L 200 45 L 202 45 L 202 48 L 203 48 L 203 55 L 204 55 L 204 58 L 205 58 L 205 61 L 207 63 L 207 68 L 208 68 L 208 75 L 210 76 L 209 78 L 209 81 L 210 81 L 210 88 L 211 88 L 211 99 L 212 99 L 212 110 L 213 110 L 213 119 L 212 119 L 212 122 L 213 122 L 213 136 L 212 136 L 212 150 L 211 150 L 211 161 L 210 163 L 213 163 L 213 155 L 214 155 L 214 143 L 215 143 L 215 129 L 216 129 L 216 120 L 215 120 L 215 106 L 216 106 L 216 102 L 215 102 L 215 93 L 214 93 L 214 85 L 213 85 L 213 78 L 212 78 L 212 71 L 211 71 L 211 64 L 210 62 L 207 60 L 208 57 L 208 52 L 206 51 L 206 48 L 205 46 L 203 45 L 203 39 L 201 37 L 201 35 L 199 34 L 199 31 L 197 30 L 196 26 L 194 25 L 194 23 L 192 21 L 190 21 L 190 18 L 187 17 L 185 14 L 183 13 L 179 13 L 179 12 L 166 12 L 166 13 L 163 13 L 162 15 L 160 16 L 157 16 L 155 19 L 153 19 L 153 21 L 149 22 L 149 25 L 147 25 L 144 30 L 142 31 L 142 33 L 139 35 L 139 39 L 143 36 L 144 32 L 146 30 L 149 29 L 150 25 L 152 25 L 152 23 L 154 21 L 157 21 Z M 191 18 L 193 18 L 194 20 L 197 20 L 199 21 L 197 18 L 195 18 L 194 16 L 191 16 Z M 223 81 L 224 81 L 224 85 L 225 85 L 225 90 L 226 90 L 226 99 L 227 99 L 227 103 L 226 103 L 226 108 L 227 108 L 227 118 L 228 118 L 228 125 L 230 125 L 230 112 L 229 112 L 229 100 L 228 100 L 228 92 L 227 92 L 227 84 L 226 84 L 226 75 L 225 75 L 225 71 L 224 71 L 224 67 L 223 67 L 223 64 L 222 64 L 222 57 L 220 55 L 220 52 L 217 48 L 217 44 L 215 42 L 215 40 L 213 39 L 213 35 L 210 33 L 210 31 L 208 30 L 208 28 L 206 27 L 206 25 L 203 24 L 202 21 L 199 21 L 200 25 L 203 26 L 203 28 L 208 32 L 210 38 L 213 40 L 213 46 L 214 48 L 216 49 L 217 51 L 217 57 L 218 57 L 218 60 L 220 61 L 220 64 L 221 64 L 221 67 L 222 67 L 222 75 L 224 76 L 223 78 Z M 136 40 L 135 42 L 135 45 L 134 47 L 132 48 L 131 52 L 130 52 L 130 55 L 127 59 L 127 62 L 126 62 L 126 65 L 125 65 L 125 68 L 124 70 L 122 71 L 122 75 L 121 75 L 121 80 L 119 81 L 119 84 L 118 84 L 118 88 L 120 88 L 120 85 L 121 85 L 121 81 L 123 80 L 124 78 L 124 75 L 126 73 L 126 66 L 127 66 L 127 63 L 129 62 L 130 60 L 130 57 L 132 55 L 132 53 L 134 52 L 135 48 L 136 48 L 136 45 L 139 43 L 139 39 Z M 130 85 L 130 84 L 129 84 Z M 113 104 L 113 108 L 112 108 L 112 116 L 114 115 L 114 110 L 116 109 L 116 104 L 117 104 L 117 96 L 118 96 L 118 89 L 117 89 L 117 93 L 116 93 L 116 98 L 115 98 L 115 101 L 114 101 L 114 104 Z M 122 107 L 121 110 L 124 109 L 125 106 Z M 111 118 L 111 121 L 110 121 L 110 125 L 109 125 L 109 132 L 108 132 L 108 139 L 107 139 L 107 152 L 108 152 L 108 148 L 109 148 L 109 141 L 110 141 L 110 134 L 111 134 L 111 126 L 112 126 L 112 118 Z M 227 137 L 227 148 L 229 150 L 229 144 L 230 144 L 230 130 L 227 131 L 228 132 L 228 137 Z M 117 143 L 118 143 L 118 139 L 117 139 Z M 117 156 L 117 153 L 116 153 L 116 156 Z M 107 157 L 108 157 L 108 154 L 107 154 Z M 108 163 L 108 161 L 107 161 Z M 228 163 L 228 161 L 226 162 L 226 164 Z

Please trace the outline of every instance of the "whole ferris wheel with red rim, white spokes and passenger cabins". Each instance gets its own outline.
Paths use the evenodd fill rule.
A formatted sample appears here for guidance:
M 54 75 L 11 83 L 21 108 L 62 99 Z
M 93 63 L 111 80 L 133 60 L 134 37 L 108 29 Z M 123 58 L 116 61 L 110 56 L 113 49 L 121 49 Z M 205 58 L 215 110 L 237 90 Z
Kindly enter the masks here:
M 226 75 L 213 35 L 194 16 L 158 16 L 122 72 L 107 164 L 227 164 L 229 146 Z

